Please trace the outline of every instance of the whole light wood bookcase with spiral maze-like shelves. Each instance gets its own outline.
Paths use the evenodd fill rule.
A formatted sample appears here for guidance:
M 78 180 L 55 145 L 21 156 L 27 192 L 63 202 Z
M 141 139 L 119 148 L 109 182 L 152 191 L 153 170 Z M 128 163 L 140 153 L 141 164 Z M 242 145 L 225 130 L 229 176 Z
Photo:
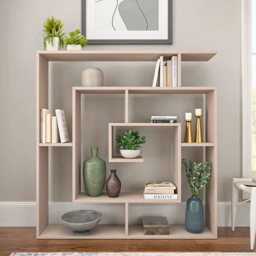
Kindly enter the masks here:
M 181 87 L 181 61 L 208 61 L 216 51 L 37 51 L 36 52 L 36 238 L 38 239 L 216 239 L 217 238 L 217 88 Z M 178 56 L 178 87 L 73 87 L 72 130 L 73 142 L 40 142 L 40 109 L 48 108 L 49 61 L 164 61 Z M 71 92 L 70 92 L 71 93 Z M 146 200 L 143 193 L 121 192 L 117 198 L 106 193 L 89 197 L 81 193 L 81 94 L 124 94 L 124 123 L 110 123 L 109 162 L 143 162 L 143 157 L 124 159 L 113 155 L 113 127 L 115 126 L 170 126 L 173 130 L 173 182 L 177 186 L 176 200 Z M 205 139 L 203 143 L 182 143 L 181 124 L 129 123 L 130 94 L 205 94 Z M 185 121 L 183 124 L 185 127 Z M 106 127 L 107 129 L 107 127 Z M 115 136 L 114 136 L 115 137 Z M 48 148 L 72 147 L 74 203 L 123 203 L 124 225 L 98 225 L 86 236 L 75 236 L 63 225 L 48 223 Z M 184 225 L 171 225 L 169 236 L 144 236 L 142 225 L 129 225 L 129 204 L 180 203 L 181 202 L 181 147 L 205 147 L 205 159 L 211 163 L 211 178 L 205 188 L 205 228 L 201 234 L 189 233 Z M 61 217 L 61 216 L 60 216 Z

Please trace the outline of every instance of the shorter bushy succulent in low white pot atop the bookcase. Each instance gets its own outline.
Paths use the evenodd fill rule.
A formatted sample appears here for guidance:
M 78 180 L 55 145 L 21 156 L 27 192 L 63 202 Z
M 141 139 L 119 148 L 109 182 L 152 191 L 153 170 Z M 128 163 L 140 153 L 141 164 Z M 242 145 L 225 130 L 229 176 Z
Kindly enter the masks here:
M 87 45 L 87 40 L 81 33 L 80 29 L 69 32 L 69 36 L 65 36 L 64 44 L 67 45 L 67 51 L 81 51 Z

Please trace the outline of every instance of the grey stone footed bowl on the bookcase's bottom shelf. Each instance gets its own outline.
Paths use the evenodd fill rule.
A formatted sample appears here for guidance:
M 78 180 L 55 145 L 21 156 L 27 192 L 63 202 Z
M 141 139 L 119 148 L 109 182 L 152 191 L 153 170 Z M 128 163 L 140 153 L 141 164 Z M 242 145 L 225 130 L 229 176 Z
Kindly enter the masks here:
M 101 217 L 100 212 L 78 210 L 65 213 L 60 220 L 64 226 L 71 228 L 76 236 L 84 236 L 100 222 Z

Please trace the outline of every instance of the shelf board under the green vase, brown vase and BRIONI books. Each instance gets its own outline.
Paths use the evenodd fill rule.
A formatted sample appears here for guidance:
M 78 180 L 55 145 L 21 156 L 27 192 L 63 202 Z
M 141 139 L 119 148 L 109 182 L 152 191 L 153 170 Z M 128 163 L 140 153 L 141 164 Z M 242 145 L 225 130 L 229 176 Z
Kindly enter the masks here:
M 111 198 L 106 192 L 101 193 L 98 197 L 90 197 L 87 193 L 82 192 L 77 196 L 73 203 L 180 203 L 180 199 L 145 199 L 142 192 L 121 192 L 118 197 Z

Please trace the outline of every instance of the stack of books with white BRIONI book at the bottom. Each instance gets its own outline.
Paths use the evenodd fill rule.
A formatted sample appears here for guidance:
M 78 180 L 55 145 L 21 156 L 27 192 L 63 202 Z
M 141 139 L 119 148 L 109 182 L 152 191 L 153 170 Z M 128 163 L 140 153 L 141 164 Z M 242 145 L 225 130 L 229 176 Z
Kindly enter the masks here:
M 178 199 L 172 182 L 145 182 L 145 199 Z

